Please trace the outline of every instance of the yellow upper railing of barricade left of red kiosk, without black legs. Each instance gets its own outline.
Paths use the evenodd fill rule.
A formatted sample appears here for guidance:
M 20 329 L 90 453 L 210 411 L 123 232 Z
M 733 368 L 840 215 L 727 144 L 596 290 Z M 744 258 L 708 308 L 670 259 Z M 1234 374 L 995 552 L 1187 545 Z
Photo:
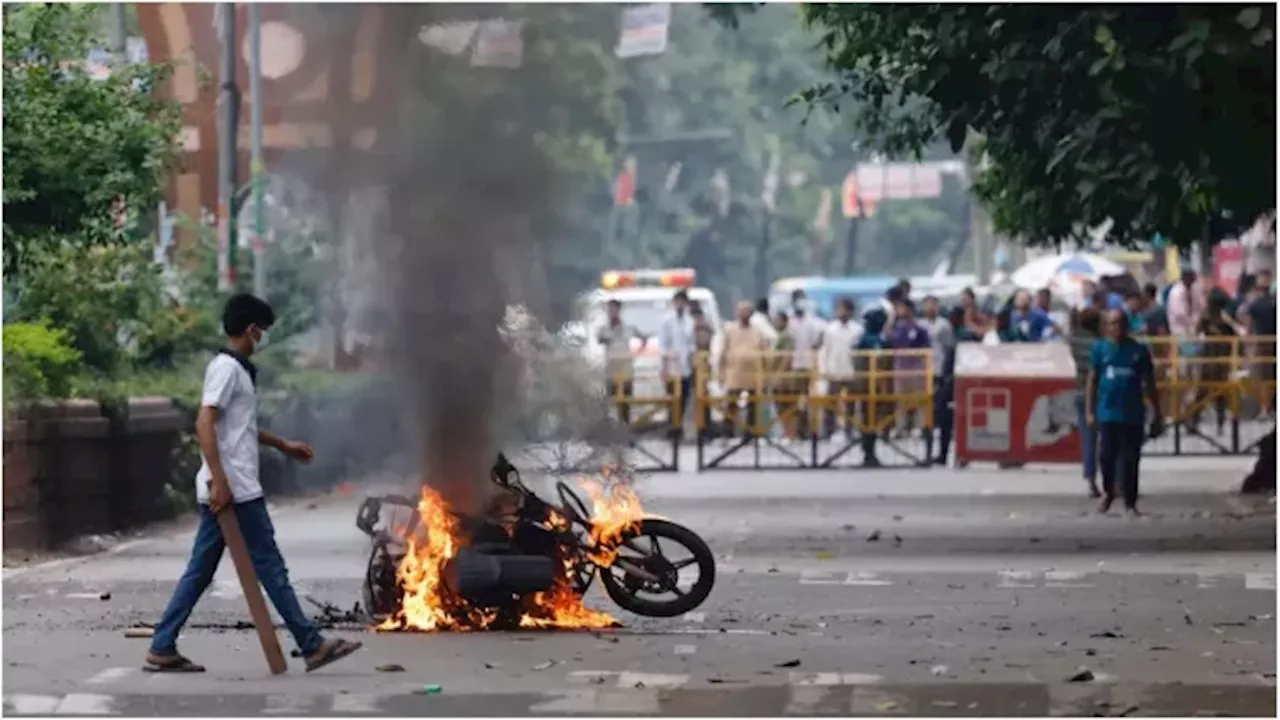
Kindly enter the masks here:
M 810 360 L 813 354 L 808 354 Z M 718 415 L 736 433 L 765 436 L 831 430 L 879 433 L 900 420 L 933 427 L 934 363 L 931 350 L 850 351 L 851 373 L 796 368 L 794 351 L 700 354 L 695 360 L 694 411 L 699 430 Z M 847 369 L 847 368 L 846 368 Z

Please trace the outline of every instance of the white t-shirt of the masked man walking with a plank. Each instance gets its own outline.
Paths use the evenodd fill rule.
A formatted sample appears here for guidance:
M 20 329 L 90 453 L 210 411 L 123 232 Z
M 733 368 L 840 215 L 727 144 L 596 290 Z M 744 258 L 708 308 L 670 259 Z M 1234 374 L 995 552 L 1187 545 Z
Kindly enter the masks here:
M 205 368 L 202 407 L 218 409 L 218 455 L 232 486 L 236 502 L 248 502 L 262 497 L 262 482 L 257 474 L 257 391 L 248 370 L 234 357 L 218 354 Z M 196 501 L 209 503 L 209 461 L 201 457 L 196 473 Z

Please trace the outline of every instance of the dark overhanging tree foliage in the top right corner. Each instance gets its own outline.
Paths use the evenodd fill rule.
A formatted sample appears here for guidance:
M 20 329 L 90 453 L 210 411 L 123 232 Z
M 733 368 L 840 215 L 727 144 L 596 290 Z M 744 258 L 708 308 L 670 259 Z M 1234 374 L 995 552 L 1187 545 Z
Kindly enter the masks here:
M 892 154 L 980 136 L 977 192 L 1024 240 L 1179 245 L 1274 208 L 1275 6 L 813 4 L 833 82 Z

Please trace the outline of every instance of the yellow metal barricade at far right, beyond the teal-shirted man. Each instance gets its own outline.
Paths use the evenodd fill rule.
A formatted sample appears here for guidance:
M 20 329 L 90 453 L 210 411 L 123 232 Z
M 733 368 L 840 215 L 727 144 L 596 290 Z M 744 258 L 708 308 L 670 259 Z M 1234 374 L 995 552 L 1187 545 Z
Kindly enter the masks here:
M 1144 338 L 1169 423 L 1146 455 L 1252 455 L 1275 428 L 1276 337 Z

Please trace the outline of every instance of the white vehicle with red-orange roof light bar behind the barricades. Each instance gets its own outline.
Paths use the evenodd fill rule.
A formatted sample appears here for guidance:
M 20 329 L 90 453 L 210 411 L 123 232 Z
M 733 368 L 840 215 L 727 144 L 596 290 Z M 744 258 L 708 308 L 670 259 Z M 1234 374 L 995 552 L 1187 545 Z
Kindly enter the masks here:
M 657 270 L 607 270 L 600 275 L 600 287 L 584 293 L 579 299 L 581 318 L 580 333 L 585 340 L 588 357 L 593 365 L 604 366 L 604 347 L 599 342 L 599 329 L 608 322 L 605 305 L 611 300 L 622 304 L 622 322 L 634 327 L 644 338 L 632 340 L 636 352 L 635 388 L 636 397 L 662 397 L 667 393 L 662 386 L 662 354 L 659 331 L 667 315 L 672 311 L 671 300 L 684 290 L 691 302 L 701 306 L 716 336 L 712 341 L 712 354 L 721 346 L 724 320 L 719 311 L 716 293 L 705 287 L 698 287 L 698 275 L 689 268 L 669 268 Z

